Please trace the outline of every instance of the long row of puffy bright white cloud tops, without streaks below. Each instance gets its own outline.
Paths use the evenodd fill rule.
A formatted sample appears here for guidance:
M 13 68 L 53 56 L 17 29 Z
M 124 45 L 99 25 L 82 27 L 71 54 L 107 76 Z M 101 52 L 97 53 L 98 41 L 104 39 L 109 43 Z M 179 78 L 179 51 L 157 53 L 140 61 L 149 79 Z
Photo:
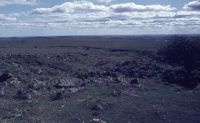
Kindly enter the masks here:
M 120 12 L 135 12 L 135 11 L 173 11 L 176 8 L 170 5 L 137 5 L 135 3 L 124 3 L 114 5 L 95 5 L 89 1 L 66 2 L 61 5 L 53 6 L 52 8 L 37 8 L 32 11 L 33 14 L 51 14 L 51 13 L 88 13 L 113 11 Z

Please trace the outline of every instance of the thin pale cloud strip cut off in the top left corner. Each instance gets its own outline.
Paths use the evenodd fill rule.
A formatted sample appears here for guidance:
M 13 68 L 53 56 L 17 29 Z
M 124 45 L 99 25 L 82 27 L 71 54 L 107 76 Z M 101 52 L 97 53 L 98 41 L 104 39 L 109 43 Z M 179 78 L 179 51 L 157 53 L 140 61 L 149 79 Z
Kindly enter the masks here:
M 38 0 L 0 0 L 0 6 L 8 4 L 34 4 Z

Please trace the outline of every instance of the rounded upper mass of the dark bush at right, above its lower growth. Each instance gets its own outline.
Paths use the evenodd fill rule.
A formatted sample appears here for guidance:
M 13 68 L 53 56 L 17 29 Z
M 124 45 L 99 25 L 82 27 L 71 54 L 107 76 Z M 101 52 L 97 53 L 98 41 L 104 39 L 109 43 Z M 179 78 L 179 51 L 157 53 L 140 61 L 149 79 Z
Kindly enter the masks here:
M 164 61 L 192 71 L 200 67 L 200 40 L 194 37 L 174 37 L 159 50 Z

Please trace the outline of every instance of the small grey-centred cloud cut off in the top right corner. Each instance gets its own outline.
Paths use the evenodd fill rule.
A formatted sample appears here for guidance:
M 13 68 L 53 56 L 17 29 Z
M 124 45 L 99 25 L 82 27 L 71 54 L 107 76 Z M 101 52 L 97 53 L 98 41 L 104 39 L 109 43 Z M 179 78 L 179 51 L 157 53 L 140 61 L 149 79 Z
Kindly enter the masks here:
M 200 0 L 189 2 L 183 7 L 183 9 L 192 10 L 192 11 L 200 11 Z

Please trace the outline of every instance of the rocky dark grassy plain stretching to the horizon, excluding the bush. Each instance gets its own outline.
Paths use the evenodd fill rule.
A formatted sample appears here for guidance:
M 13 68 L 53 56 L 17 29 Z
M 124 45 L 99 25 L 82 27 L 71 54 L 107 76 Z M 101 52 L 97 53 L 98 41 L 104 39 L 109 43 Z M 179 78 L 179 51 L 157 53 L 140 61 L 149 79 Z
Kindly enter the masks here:
M 199 123 L 200 87 L 162 80 L 172 39 L 0 38 L 0 122 Z

